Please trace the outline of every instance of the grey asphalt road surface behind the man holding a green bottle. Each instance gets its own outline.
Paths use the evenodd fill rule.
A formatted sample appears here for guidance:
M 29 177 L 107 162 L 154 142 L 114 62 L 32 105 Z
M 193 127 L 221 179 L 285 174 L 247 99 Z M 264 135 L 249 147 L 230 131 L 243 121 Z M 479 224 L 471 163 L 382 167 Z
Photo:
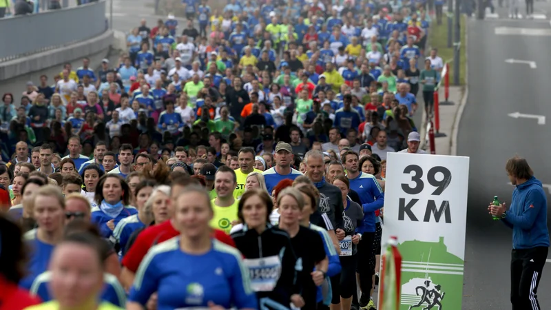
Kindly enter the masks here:
M 545 143 L 550 124 L 508 116 L 539 114 L 551 121 L 547 95 L 551 63 L 545 53 L 551 37 L 496 35 L 496 27 L 550 30 L 548 21 L 469 21 L 469 96 L 457 145 L 459 156 L 470 156 L 463 298 L 463 309 L 469 310 L 510 309 L 512 231 L 486 211 L 495 195 L 510 203 L 513 187 L 507 185 L 507 159 L 514 154 L 527 158 L 536 177 L 551 183 L 545 173 L 551 152 L 551 145 Z M 536 61 L 537 68 L 506 63 L 506 59 Z M 551 309 L 551 264 L 547 265 L 539 285 L 541 309 Z

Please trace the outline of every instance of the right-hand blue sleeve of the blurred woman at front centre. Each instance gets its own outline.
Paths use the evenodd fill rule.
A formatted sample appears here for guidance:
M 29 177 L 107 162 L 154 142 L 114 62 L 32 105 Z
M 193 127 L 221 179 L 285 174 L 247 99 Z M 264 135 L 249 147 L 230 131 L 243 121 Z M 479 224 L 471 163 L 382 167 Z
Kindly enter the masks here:
M 229 278 L 231 287 L 231 296 L 237 309 L 256 309 L 258 302 L 255 293 L 251 289 L 251 280 L 249 270 L 243 264 L 239 256 L 235 256 L 235 265 L 232 268 L 233 273 Z

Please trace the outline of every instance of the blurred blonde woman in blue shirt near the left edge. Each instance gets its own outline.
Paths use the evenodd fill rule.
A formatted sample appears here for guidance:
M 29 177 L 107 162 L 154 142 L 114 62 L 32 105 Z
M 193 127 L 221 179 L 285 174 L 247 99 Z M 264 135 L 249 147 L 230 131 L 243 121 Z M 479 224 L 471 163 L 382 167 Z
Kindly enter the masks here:
M 34 192 L 33 197 L 32 214 L 38 228 L 25 234 L 31 254 L 27 276 L 19 282 L 24 289 L 30 289 L 34 278 L 48 269 L 54 247 L 63 238 L 65 225 L 65 197 L 59 187 L 45 185 Z

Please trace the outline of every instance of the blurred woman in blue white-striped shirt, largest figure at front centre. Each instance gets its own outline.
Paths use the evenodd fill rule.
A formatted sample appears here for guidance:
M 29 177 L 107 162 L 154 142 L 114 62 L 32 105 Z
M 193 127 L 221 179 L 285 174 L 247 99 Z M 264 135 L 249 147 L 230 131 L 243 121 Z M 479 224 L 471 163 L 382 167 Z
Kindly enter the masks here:
M 155 292 L 158 310 L 257 309 L 240 252 L 211 238 L 209 221 L 214 213 L 205 188 L 186 187 L 175 204 L 174 221 L 180 236 L 149 249 L 136 273 L 126 309 L 143 309 Z

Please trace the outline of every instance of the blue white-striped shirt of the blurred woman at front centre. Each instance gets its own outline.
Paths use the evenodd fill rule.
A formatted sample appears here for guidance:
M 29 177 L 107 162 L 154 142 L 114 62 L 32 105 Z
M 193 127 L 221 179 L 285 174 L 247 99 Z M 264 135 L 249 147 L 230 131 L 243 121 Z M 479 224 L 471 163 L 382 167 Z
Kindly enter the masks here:
M 129 300 L 145 305 L 158 292 L 158 310 L 208 307 L 258 308 L 249 269 L 237 249 L 212 241 L 205 254 L 180 250 L 180 237 L 155 245 L 142 260 Z

